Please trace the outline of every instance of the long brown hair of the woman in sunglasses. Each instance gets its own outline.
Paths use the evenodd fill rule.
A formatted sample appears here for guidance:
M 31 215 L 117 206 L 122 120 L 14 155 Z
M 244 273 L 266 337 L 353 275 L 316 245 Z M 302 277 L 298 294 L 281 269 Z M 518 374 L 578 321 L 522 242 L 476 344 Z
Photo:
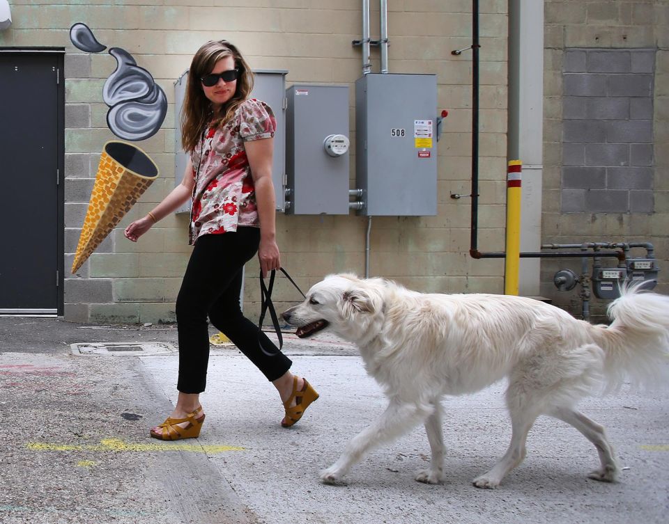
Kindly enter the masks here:
M 222 114 L 213 115 L 211 102 L 204 95 L 201 77 L 214 69 L 217 61 L 232 56 L 235 68 L 239 70 L 237 88 L 233 97 L 226 102 Z M 253 72 L 239 50 L 227 40 L 211 40 L 200 47 L 193 56 L 188 70 L 186 93 L 181 111 L 181 145 L 183 150 L 191 152 L 201 138 L 203 130 L 210 124 L 222 127 L 234 116 L 237 108 L 244 102 L 253 88 Z

